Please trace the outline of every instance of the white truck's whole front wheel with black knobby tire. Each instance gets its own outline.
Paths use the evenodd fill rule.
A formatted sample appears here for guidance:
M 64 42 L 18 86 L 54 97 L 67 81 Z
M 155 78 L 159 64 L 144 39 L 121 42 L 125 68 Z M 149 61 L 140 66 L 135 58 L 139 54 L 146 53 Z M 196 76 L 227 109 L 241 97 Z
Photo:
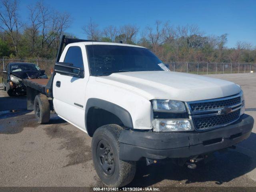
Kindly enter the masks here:
M 119 159 L 118 137 L 122 128 L 116 124 L 98 128 L 92 137 L 92 160 L 102 182 L 109 187 L 129 184 L 136 172 L 136 162 Z

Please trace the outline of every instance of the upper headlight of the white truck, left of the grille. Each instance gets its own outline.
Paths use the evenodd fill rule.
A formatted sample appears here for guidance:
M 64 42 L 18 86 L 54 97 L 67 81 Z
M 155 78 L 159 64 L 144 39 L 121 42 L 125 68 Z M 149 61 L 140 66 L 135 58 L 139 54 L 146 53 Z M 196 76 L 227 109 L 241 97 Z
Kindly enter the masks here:
M 154 99 L 152 108 L 154 111 L 162 112 L 186 112 L 185 104 L 175 100 Z

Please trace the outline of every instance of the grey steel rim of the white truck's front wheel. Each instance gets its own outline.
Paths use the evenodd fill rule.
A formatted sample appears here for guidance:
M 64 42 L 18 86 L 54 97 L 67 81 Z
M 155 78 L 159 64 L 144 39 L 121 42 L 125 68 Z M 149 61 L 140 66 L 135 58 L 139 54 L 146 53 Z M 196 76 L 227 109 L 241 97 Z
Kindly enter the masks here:
M 113 150 L 106 140 L 100 140 L 96 149 L 97 162 L 106 176 L 111 176 L 115 170 Z

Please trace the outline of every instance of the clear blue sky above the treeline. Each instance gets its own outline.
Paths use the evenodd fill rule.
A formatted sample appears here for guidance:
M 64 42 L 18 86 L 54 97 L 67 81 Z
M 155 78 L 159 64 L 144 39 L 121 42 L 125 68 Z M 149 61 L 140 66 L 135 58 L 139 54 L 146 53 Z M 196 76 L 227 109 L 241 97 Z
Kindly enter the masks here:
M 27 6 L 35 0 L 20 0 L 20 16 L 28 20 Z M 136 24 L 140 30 L 156 20 L 171 25 L 195 24 L 206 35 L 228 34 L 226 46 L 242 41 L 256 46 L 256 0 L 44 0 L 72 17 L 66 32 L 86 38 L 82 26 L 95 22 L 100 28 L 109 25 Z

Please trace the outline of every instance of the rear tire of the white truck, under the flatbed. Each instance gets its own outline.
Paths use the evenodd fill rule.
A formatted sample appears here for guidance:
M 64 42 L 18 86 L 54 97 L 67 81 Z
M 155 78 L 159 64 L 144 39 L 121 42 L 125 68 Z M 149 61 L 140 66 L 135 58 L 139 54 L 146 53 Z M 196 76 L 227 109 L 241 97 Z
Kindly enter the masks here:
M 39 94 L 34 100 L 34 111 L 38 123 L 48 123 L 50 120 L 50 104 L 46 95 Z

